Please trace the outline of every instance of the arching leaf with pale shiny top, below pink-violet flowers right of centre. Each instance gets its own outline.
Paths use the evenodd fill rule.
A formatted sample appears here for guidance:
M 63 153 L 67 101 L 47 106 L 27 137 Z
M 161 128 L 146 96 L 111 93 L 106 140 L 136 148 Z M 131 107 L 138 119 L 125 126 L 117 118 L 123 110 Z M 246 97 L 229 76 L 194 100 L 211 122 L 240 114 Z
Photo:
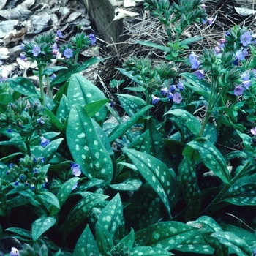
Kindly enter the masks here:
M 167 111 L 165 115 L 175 116 L 176 118 L 181 119 L 181 121 L 183 121 L 184 125 L 189 129 L 190 132 L 192 132 L 195 135 L 199 135 L 201 128 L 200 121 L 187 110 L 176 108 Z

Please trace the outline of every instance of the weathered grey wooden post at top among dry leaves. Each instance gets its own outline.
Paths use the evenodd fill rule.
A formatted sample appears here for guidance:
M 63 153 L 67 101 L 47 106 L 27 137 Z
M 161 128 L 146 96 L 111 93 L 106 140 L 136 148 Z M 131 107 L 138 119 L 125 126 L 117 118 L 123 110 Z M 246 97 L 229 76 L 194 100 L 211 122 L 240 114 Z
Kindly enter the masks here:
M 86 7 L 99 37 L 110 44 L 118 42 L 118 37 L 124 31 L 124 25 L 122 20 L 113 21 L 115 17 L 113 0 L 80 0 L 80 2 Z

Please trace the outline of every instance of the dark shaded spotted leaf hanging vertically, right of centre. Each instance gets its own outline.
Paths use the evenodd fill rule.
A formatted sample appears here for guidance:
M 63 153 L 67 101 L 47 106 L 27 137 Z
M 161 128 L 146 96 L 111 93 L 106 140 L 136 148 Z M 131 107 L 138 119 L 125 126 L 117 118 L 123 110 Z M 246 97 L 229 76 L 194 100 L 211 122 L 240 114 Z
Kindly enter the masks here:
M 178 166 L 178 176 L 181 180 L 181 188 L 187 203 L 186 220 L 195 219 L 200 214 L 201 192 L 197 182 L 195 164 L 184 157 Z

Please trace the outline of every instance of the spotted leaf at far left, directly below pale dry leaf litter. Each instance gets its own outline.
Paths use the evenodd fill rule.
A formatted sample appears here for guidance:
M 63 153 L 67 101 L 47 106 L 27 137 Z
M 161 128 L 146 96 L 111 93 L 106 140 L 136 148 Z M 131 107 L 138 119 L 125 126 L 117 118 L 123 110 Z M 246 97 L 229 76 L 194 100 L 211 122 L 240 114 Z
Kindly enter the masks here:
M 35 97 L 38 95 L 34 84 L 28 78 L 10 78 L 7 79 L 7 82 L 13 90 L 20 92 L 20 94 Z

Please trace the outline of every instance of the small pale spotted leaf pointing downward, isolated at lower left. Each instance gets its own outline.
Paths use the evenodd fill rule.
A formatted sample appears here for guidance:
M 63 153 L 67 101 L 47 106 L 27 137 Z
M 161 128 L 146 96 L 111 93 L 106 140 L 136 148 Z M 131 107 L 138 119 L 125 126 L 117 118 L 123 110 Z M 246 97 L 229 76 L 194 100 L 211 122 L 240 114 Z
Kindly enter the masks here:
M 54 217 L 42 216 L 32 223 L 32 238 L 33 241 L 37 241 L 39 236 L 41 236 L 45 231 L 52 227 L 56 223 Z

